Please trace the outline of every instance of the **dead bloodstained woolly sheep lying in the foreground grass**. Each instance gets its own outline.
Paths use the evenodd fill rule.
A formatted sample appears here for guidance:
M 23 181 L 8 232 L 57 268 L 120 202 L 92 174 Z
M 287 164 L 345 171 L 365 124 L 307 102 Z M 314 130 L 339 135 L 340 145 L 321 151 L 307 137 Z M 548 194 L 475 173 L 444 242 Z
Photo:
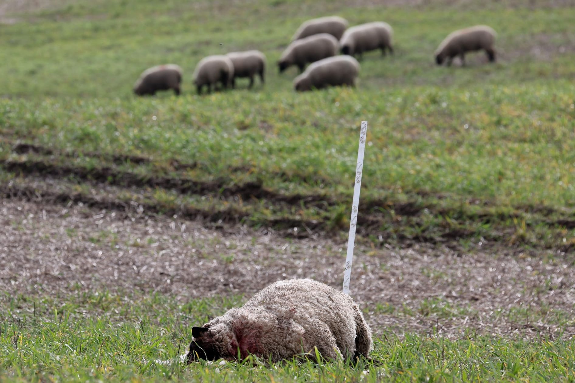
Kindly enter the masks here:
M 248 354 L 278 362 L 317 347 L 325 359 L 368 357 L 371 330 L 358 305 L 340 290 L 312 279 L 279 281 L 232 308 L 193 336 L 187 362 L 227 361 Z

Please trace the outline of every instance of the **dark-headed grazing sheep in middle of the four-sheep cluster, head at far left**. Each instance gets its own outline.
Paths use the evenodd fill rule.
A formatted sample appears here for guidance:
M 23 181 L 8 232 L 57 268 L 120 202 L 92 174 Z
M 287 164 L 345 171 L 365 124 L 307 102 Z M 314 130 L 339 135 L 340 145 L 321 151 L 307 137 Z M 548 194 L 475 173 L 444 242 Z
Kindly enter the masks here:
M 335 56 L 337 53 L 338 40 L 329 33 L 305 37 L 305 39 L 293 41 L 283 51 L 278 61 L 279 72 L 297 65 L 301 73 L 304 71 L 305 64 Z

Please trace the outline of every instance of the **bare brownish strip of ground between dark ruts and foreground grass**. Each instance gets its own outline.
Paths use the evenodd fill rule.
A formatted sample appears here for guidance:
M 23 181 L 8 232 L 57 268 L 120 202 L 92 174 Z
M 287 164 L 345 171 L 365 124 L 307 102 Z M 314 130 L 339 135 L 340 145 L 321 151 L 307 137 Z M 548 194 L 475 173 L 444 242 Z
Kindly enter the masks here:
M 296 277 L 339 288 L 346 246 L 343 239 L 286 239 L 268 230 L 18 199 L 0 201 L 0 227 L 0 291 L 39 296 L 65 296 L 71 286 L 182 300 L 250 296 Z M 376 334 L 575 334 L 575 266 L 565 256 L 466 254 L 423 244 L 372 250 L 367 243 L 355 254 L 351 293 Z

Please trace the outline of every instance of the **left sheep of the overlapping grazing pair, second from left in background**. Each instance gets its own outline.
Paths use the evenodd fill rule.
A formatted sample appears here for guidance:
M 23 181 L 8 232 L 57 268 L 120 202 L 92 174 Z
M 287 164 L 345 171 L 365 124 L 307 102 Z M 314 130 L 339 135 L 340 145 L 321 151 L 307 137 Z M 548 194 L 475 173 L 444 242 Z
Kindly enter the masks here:
M 233 79 L 233 63 L 227 56 L 213 55 L 200 60 L 194 70 L 194 85 L 198 94 L 202 93 L 202 87 L 207 86 L 208 92 L 212 91 L 212 85 L 220 82 L 226 89 Z

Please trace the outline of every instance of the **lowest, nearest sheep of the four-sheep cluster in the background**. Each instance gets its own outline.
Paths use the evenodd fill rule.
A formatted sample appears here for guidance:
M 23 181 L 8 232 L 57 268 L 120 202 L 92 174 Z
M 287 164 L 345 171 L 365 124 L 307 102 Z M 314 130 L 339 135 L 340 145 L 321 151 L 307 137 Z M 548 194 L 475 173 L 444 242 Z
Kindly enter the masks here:
M 293 83 L 300 92 L 328 86 L 355 86 L 358 75 L 358 60 L 351 56 L 335 56 L 311 64 Z

